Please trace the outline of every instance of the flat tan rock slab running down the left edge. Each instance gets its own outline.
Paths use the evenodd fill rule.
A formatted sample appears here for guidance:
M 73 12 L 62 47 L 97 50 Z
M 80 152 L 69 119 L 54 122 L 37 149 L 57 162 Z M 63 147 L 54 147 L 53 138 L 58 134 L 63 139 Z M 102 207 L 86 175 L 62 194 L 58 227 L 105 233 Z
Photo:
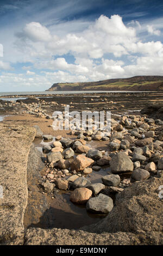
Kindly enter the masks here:
M 36 130 L 0 124 L 0 245 L 24 243 L 23 216 L 27 207 L 27 161 Z

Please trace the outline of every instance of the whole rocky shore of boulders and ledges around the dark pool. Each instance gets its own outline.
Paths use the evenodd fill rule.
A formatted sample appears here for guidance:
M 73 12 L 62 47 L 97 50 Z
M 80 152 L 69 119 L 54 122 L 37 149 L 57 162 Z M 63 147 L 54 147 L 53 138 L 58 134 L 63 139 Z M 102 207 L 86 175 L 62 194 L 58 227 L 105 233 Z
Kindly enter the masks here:
M 95 126 L 92 130 L 71 130 L 66 136 L 51 132 L 50 122 L 53 110 L 72 99 L 65 97 L 60 103 L 32 98 L 34 102 L 26 99 L 12 103 L 12 113 L 17 110 L 22 119 L 21 126 L 16 125 L 16 114 L 0 123 L 2 245 L 162 244 L 163 107 L 150 103 L 136 112 L 144 105 L 142 100 L 137 102 L 138 109 L 135 106 L 129 112 L 124 98 L 122 103 L 118 98 L 111 101 L 97 97 L 104 101 L 102 109 L 112 111 L 111 131 L 105 121 L 106 129 L 97 131 Z M 79 110 L 80 101 L 76 100 L 72 107 Z M 93 111 L 96 99 L 90 97 L 89 101 L 93 104 L 88 103 L 87 108 Z M 33 123 L 23 120 L 27 115 L 35 117 Z M 49 130 L 40 125 L 46 120 Z M 45 142 L 43 154 L 33 145 L 38 138 Z M 92 179 L 96 173 L 98 182 Z M 76 230 L 53 228 L 47 215 L 49 200 L 63 191 L 73 204 L 85 205 L 87 212 L 107 216 Z M 29 225 L 38 223 L 38 216 L 43 215 L 48 222 L 44 228 Z

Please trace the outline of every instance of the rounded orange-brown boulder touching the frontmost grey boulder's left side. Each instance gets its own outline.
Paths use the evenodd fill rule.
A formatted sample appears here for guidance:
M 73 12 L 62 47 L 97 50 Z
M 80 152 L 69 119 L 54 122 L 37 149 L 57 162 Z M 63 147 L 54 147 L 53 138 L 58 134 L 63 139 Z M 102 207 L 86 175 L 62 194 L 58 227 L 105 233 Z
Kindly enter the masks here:
M 91 190 L 86 187 L 80 187 L 71 192 L 70 201 L 77 204 L 85 204 L 91 196 Z

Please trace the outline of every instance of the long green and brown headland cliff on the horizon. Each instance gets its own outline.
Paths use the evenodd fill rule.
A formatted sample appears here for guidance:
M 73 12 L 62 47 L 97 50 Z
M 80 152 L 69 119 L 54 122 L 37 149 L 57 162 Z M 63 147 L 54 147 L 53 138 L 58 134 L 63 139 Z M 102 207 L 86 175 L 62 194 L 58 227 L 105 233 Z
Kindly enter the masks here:
M 163 76 L 134 76 L 130 78 L 118 78 L 83 83 L 54 83 L 47 91 L 75 90 L 162 91 Z

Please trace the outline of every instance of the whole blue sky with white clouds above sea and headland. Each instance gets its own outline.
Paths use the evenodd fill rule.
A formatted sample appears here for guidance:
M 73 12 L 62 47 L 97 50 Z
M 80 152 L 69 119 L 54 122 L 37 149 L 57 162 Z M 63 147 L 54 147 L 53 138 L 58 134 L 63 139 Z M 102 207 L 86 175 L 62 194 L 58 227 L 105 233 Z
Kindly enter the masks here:
M 163 75 L 162 14 L 162 0 L 0 0 L 0 92 Z

